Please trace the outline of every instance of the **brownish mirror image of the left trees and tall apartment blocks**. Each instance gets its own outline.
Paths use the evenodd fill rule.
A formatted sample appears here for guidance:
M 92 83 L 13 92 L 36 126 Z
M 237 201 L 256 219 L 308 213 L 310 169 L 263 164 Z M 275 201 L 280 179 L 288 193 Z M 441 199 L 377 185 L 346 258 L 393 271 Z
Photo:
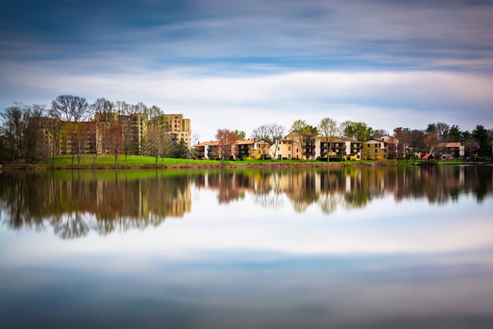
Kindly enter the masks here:
M 0 204 L 9 227 L 39 229 L 49 223 L 62 238 L 183 217 L 191 209 L 190 193 L 186 175 L 163 172 L 15 172 L 0 179 Z

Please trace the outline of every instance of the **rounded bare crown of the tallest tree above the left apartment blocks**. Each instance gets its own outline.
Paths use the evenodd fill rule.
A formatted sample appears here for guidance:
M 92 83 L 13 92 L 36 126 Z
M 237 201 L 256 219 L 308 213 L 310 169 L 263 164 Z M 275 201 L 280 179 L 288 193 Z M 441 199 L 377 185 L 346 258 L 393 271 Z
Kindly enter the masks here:
M 88 119 L 89 104 L 84 97 L 60 95 L 51 102 L 51 112 L 60 120 L 84 121 Z

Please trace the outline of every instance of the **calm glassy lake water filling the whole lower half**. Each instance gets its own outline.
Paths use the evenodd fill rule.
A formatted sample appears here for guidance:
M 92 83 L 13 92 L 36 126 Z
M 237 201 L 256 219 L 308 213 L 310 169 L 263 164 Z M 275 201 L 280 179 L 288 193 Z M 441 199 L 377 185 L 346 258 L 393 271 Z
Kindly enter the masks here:
M 1 328 L 492 328 L 493 167 L 0 174 Z

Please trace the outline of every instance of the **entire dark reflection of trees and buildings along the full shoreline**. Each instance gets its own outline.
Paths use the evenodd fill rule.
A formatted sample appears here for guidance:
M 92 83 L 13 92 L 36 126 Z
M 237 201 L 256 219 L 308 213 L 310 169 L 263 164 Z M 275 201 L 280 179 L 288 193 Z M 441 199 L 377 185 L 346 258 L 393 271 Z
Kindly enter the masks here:
M 192 207 L 192 185 L 216 191 L 218 204 L 249 194 L 262 207 L 278 208 L 285 196 L 296 212 L 317 204 L 330 214 L 388 195 L 396 201 L 413 197 L 446 204 L 472 193 L 481 202 L 492 191 L 492 168 L 15 172 L 0 176 L 0 207 L 2 221 L 13 229 L 49 224 L 60 237 L 74 238 L 91 230 L 106 235 L 183 217 Z

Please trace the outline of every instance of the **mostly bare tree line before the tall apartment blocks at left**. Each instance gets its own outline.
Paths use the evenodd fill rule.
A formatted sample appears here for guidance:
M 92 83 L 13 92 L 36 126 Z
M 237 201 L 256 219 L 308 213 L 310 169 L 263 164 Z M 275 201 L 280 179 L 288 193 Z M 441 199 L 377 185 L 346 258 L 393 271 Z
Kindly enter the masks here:
M 88 121 L 94 118 L 93 121 Z M 60 95 L 51 107 L 15 103 L 0 113 L 0 160 L 33 163 L 51 160 L 55 155 L 72 155 L 77 166 L 81 154 L 141 154 L 190 158 L 198 135 L 173 138 L 162 110 L 153 105 L 111 102 L 98 98 L 89 104 L 83 97 Z

